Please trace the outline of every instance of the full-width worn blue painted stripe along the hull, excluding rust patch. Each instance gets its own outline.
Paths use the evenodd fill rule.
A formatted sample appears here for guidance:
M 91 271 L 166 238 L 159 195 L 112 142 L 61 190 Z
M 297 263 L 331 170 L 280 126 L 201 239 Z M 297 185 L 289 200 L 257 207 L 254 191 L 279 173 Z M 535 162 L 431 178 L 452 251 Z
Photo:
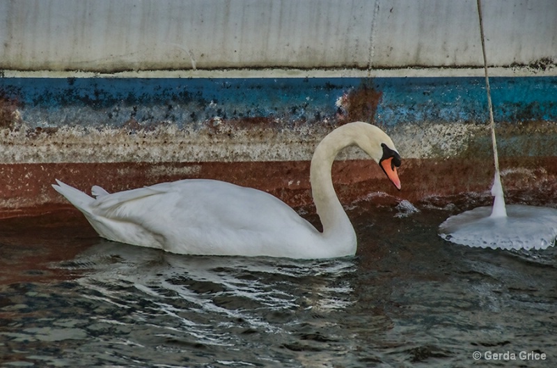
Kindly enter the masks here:
M 490 79 L 496 121 L 557 121 L 557 77 Z M 480 77 L 389 78 L 0 78 L 0 97 L 33 125 L 123 125 L 130 118 L 182 127 L 210 118 L 336 118 L 336 100 L 363 87 L 382 93 L 375 122 L 487 121 Z M 370 102 L 371 103 L 371 102 Z

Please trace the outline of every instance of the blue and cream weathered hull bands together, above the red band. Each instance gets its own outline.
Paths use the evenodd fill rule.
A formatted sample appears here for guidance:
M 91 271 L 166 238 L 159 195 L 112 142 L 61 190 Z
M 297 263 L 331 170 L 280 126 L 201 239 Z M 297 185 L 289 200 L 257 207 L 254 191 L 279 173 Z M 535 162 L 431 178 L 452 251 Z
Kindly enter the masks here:
M 486 135 L 484 83 L 2 78 L 0 162 L 310 160 L 319 139 L 355 120 L 382 126 L 406 158 L 463 155 Z M 547 140 L 557 121 L 557 77 L 496 77 L 492 93 L 496 122 L 510 124 L 515 138 L 528 136 L 512 144 L 501 139 L 503 154 L 557 155 Z M 481 141 L 489 155 L 489 139 Z

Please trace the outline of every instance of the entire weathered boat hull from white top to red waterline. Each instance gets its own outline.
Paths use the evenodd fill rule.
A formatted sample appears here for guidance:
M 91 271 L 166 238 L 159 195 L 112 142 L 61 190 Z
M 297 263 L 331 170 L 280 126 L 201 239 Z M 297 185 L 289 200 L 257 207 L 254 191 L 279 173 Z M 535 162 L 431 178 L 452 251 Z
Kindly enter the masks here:
M 87 191 L 216 178 L 311 206 L 313 149 L 350 121 L 391 135 L 402 191 L 350 148 L 334 165 L 343 203 L 489 197 L 476 1 L 0 10 L 0 217 L 68 206 L 56 178 Z M 511 201 L 555 205 L 557 7 L 486 1 L 484 17 L 503 184 Z

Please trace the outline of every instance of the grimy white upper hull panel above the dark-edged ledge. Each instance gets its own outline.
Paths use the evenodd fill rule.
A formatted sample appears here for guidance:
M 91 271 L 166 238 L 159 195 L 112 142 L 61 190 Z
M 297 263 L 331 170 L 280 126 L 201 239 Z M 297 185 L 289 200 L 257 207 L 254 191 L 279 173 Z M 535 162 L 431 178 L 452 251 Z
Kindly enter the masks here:
M 492 66 L 557 61 L 554 0 L 484 1 Z M 0 69 L 483 65 L 476 0 L 0 1 Z

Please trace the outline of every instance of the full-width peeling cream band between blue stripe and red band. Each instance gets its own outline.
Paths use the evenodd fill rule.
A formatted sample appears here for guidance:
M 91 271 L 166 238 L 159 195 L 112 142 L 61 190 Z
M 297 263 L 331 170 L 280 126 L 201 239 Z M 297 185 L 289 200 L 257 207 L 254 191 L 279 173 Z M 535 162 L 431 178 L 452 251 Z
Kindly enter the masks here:
M 0 129 L 0 162 L 251 162 L 311 160 L 315 146 L 335 128 L 330 124 L 272 128 L 221 123 L 200 130 L 164 125 L 152 130 L 85 129 L 63 126 L 49 132 Z M 249 127 L 249 128 L 246 128 Z M 543 128 L 540 128 L 543 127 Z M 387 128 L 403 158 L 489 158 L 491 133 L 475 123 L 401 124 Z M 557 124 L 498 129 L 504 156 L 557 155 Z M 346 148 L 339 160 L 366 158 Z

